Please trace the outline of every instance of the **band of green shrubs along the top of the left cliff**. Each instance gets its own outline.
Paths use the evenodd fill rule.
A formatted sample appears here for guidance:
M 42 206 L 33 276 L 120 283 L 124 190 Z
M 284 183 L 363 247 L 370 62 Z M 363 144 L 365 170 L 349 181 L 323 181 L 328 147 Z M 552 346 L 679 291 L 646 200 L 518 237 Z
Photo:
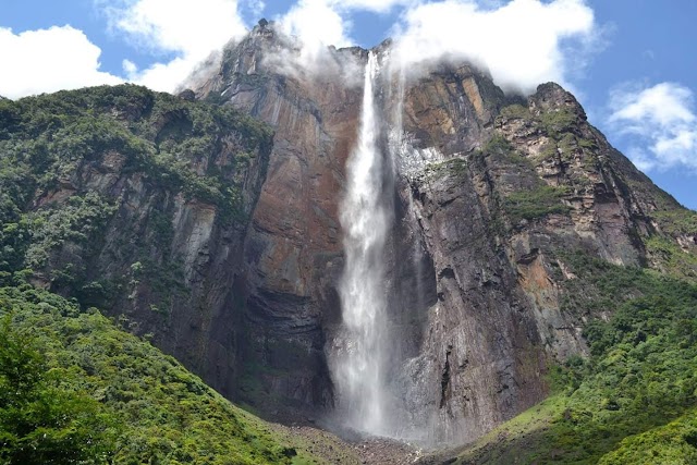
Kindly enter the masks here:
M 231 131 L 240 134 L 227 140 Z M 197 162 L 236 143 L 237 162 L 269 144 L 269 130 L 224 107 L 189 102 L 124 85 L 0 101 L 0 186 L 3 220 L 35 195 L 70 180 L 85 162 L 118 151 L 124 170 L 142 170 L 191 197 L 232 215 L 239 188 L 229 181 L 235 163 Z M 231 185 L 232 184 L 232 185 Z

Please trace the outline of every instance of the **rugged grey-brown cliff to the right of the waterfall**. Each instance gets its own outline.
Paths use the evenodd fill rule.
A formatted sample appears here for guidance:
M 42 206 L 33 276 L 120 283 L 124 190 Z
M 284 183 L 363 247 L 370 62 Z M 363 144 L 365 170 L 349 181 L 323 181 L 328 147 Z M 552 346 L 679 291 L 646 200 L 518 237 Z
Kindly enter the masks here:
M 420 88 L 444 87 L 462 73 L 419 83 L 406 111 Z M 438 298 L 403 390 L 415 421 L 430 414 L 438 440 L 478 437 L 538 402 L 548 366 L 586 352 L 584 321 L 599 315 L 564 307 L 559 284 L 573 279 L 564 274 L 564 254 L 640 265 L 643 237 L 652 231 L 650 195 L 640 201 L 627 187 L 616 169 L 623 157 L 585 122 L 571 95 L 543 85 L 526 105 L 500 98 L 499 111 L 489 113 L 477 112 L 477 100 L 469 97 L 464 110 L 454 98 L 441 106 L 452 109 L 435 121 L 441 131 L 425 130 L 435 126 L 426 118 L 405 123 L 407 134 L 435 134 L 414 139 L 405 155 L 435 160 L 405 162 L 399 185 L 412 211 L 405 223 L 427 257 L 417 260 L 432 264 Z M 450 131 L 448 140 L 442 127 L 463 120 L 466 129 Z M 468 138 L 473 133 L 478 137 Z

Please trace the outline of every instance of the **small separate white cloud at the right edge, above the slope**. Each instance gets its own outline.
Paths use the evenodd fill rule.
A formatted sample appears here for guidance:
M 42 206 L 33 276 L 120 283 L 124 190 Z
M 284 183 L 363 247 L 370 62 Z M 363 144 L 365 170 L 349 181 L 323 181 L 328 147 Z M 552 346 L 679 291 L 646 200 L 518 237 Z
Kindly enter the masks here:
M 609 109 L 609 127 L 628 142 L 627 155 L 639 169 L 697 170 L 697 114 L 689 88 L 625 84 L 610 93 Z

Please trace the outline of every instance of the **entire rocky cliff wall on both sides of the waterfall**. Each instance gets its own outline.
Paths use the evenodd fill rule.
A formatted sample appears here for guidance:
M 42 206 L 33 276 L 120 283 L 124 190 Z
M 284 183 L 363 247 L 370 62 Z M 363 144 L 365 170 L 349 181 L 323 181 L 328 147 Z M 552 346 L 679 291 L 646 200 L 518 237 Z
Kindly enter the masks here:
M 401 76 L 389 47 L 376 100 L 394 433 L 466 442 L 543 399 L 550 364 L 586 353 L 585 322 L 611 311 L 570 304 L 570 254 L 694 278 L 697 240 L 558 85 L 525 99 L 467 65 Z M 309 72 L 259 26 L 180 98 L 3 101 L 0 278 L 32 268 L 270 417 L 326 415 L 366 59 L 331 49 Z

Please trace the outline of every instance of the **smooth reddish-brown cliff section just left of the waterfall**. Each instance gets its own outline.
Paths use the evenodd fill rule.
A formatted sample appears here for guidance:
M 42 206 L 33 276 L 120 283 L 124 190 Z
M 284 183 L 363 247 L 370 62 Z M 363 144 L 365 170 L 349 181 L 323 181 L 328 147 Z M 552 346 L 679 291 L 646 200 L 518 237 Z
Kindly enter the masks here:
M 257 27 L 225 50 L 220 73 L 198 94 L 274 130 L 268 175 L 243 245 L 249 382 L 240 395 L 262 408 L 269 397 L 280 400 L 272 409 L 283 414 L 289 406 L 332 404 L 322 325 L 340 315 L 338 201 L 362 89 L 341 77 L 342 59 L 347 66 L 356 60 L 351 50 L 335 53 L 321 75 L 289 70 L 279 53 L 293 52 L 271 29 Z

